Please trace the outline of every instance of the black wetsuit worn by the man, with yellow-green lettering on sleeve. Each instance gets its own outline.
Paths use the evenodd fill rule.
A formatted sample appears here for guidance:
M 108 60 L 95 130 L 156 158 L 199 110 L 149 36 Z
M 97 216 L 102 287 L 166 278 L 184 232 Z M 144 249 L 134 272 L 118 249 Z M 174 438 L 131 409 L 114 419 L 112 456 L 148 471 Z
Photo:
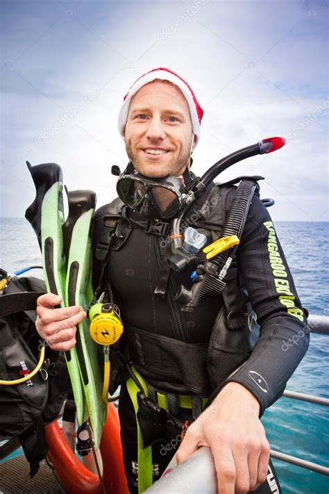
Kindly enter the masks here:
M 228 208 L 222 203 L 217 207 L 223 211 Z M 164 252 L 161 238 L 145 233 L 139 224 L 142 220 L 140 215 L 130 213 L 128 219 L 130 235 L 119 249 L 111 251 L 108 264 L 108 277 L 119 299 L 125 331 L 142 329 L 187 343 L 208 343 L 223 299 L 218 296 L 205 297 L 192 313 L 180 312 L 178 315 L 173 307 L 173 294 L 180 283 L 188 286 L 189 273 L 171 271 L 166 297 L 162 299 L 155 295 Z M 211 223 L 211 213 L 206 223 Z M 257 314 L 260 338 L 249 359 L 233 375 L 226 376 L 225 382 L 237 381 L 248 388 L 260 402 L 262 414 L 282 394 L 287 380 L 307 350 L 309 336 L 304 331 L 303 308 L 271 218 L 256 195 L 237 249 L 236 261 L 240 281 L 243 279 Z M 295 343 L 289 345 L 289 342 Z M 143 374 L 141 366 L 138 370 Z M 149 374 L 145 372 L 144 377 L 148 379 Z M 121 386 L 119 414 L 129 488 L 137 493 L 135 413 L 124 385 Z M 180 418 L 185 420 L 188 416 L 190 418 L 190 411 L 181 409 Z M 163 441 L 153 446 L 154 480 L 162 474 L 178 445 L 172 447 L 171 444 L 169 451 Z M 166 453 L 162 454 L 164 451 Z M 276 491 L 271 491 L 266 482 L 256 492 Z

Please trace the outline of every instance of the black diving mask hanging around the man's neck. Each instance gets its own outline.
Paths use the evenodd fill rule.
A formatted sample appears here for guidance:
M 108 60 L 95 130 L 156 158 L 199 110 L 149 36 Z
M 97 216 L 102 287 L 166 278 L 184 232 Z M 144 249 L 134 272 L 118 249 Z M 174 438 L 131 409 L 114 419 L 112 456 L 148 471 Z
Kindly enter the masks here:
M 128 208 L 144 216 L 156 215 L 162 220 L 178 215 L 186 197 L 183 183 L 176 176 L 149 179 L 138 172 L 121 174 L 117 193 Z

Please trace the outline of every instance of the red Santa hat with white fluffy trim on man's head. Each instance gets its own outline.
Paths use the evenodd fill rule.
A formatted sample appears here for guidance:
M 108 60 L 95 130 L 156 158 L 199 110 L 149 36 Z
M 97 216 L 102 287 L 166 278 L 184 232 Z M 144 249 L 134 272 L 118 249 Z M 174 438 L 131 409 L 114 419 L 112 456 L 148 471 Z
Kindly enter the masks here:
M 146 74 L 140 76 L 137 81 L 135 81 L 133 85 L 130 86 L 130 89 L 124 97 L 124 103 L 121 106 L 121 110 L 119 112 L 119 133 L 124 136 L 124 126 L 127 122 L 131 98 L 138 90 L 140 90 L 140 88 L 143 87 L 143 85 L 155 81 L 155 79 L 170 81 L 171 83 L 177 85 L 178 88 L 183 92 L 187 104 L 189 105 L 189 113 L 192 120 L 192 130 L 194 135 L 196 135 L 196 140 L 194 143 L 195 147 L 200 138 L 200 124 L 203 116 L 203 109 L 196 100 L 195 94 L 190 88 L 189 84 L 180 76 L 178 76 L 178 74 L 176 74 L 172 70 L 166 69 L 165 67 L 158 67 L 158 69 L 152 69 L 149 72 L 146 72 Z

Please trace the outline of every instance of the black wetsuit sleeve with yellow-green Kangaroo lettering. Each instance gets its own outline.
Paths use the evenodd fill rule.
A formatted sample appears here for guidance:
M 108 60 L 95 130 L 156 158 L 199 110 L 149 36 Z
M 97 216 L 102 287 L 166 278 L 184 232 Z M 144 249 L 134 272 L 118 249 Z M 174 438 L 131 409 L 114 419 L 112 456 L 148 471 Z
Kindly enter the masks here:
M 260 414 L 282 395 L 309 345 L 294 280 L 271 217 L 257 195 L 237 249 L 237 265 L 260 324 L 249 359 L 227 379 L 242 384 L 260 403 Z

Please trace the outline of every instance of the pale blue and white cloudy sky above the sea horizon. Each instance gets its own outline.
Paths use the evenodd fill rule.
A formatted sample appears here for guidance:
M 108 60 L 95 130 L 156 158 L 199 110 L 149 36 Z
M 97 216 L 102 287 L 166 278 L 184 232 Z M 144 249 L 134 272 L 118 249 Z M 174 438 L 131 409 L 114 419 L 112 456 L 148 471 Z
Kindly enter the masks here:
M 169 67 L 204 110 L 196 174 L 284 136 L 218 180 L 262 175 L 274 221 L 328 221 L 328 26 L 326 0 L 1 0 L 0 216 L 35 197 L 26 160 L 58 163 L 98 206 L 114 199 L 124 94 Z

